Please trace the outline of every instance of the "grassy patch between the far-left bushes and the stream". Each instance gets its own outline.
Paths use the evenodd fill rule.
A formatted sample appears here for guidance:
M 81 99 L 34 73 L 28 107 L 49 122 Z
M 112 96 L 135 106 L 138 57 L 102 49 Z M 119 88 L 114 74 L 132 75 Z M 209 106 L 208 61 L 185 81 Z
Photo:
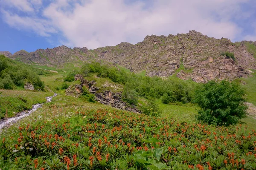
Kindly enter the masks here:
M 0 90 L 0 119 L 13 117 L 16 113 L 29 110 L 32 105 L 46 102 L 52 92 Z M 6 115 L 7 112 L 7 115 Z

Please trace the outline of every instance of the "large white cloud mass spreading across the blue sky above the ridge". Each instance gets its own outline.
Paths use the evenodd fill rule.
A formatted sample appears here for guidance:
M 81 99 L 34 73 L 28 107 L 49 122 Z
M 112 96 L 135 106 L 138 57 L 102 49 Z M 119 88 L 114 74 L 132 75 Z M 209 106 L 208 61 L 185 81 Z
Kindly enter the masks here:
M 22 1 L 24 6 L 29 2 L 32 7 L 38 0 Z M 148 7 L 146 1 L 127 4 L 124 0 L 55 0 L 38 13 L 44 19 L 6 14 L 5 20 L 11 26 L 29 28 L 41 36 L 49 36 L 58 30 L 67 38 L 66 44 L 87 48 L 125 41 L 137 43 L 146 35 L 186 33 L 189 30 L 232 40 L 241 33 L 241 28 L 231 19 L 248 16 L 241 15 L 240 9 L 240 4 L 247 1 L 155 0 Z M 41 0 L 38 2 L 40 4 Z

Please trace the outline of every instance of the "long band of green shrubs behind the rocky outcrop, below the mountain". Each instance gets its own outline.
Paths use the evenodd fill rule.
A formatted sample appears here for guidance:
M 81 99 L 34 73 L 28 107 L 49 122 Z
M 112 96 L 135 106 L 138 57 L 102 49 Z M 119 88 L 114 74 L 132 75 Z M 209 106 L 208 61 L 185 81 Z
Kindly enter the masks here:
M 96 73 L 99 77 L 109 77 L 113 82 L 125 85 L 123 99 L 130 104 L 137 104 L 137 97 L 165 98 L 164 103 L 191 102 L 195 82 L 178 78 L 161 79 L 160 77 L 141 76 L 100 63 L 87 63 L 81 73 L 88 76 Z

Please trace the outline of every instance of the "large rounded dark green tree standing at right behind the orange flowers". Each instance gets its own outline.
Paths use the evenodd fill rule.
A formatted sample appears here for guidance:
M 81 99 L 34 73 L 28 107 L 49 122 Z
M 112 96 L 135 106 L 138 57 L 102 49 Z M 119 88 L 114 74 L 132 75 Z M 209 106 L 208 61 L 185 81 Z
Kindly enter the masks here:
M 196 118 L 207 124 L 234 125 L 246 117 L 244 95 L 238 82 L 209 81 L 195 90 L 194 102 L 201 108 Z

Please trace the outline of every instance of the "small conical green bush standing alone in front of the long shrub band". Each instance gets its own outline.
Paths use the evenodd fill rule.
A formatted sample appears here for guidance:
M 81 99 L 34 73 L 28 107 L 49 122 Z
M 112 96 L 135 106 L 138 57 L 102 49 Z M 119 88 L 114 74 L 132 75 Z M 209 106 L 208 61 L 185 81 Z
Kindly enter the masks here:
M 155 99 L 153 98 L 149 98 L 147 104 L 141 106 L 141 111 L 149 116 L 160 116 L 162 113 Z

